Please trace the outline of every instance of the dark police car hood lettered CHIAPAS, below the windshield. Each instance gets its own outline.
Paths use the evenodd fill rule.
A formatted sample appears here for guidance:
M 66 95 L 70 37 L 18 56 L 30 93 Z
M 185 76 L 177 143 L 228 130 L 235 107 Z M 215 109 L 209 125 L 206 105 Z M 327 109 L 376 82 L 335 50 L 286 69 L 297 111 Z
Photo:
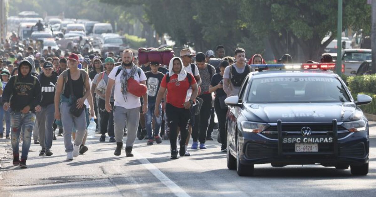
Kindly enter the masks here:
M 353 102 L 302 104 L 244 104 L 244 116 L 255 122 L 346 122 L 357 111 Z

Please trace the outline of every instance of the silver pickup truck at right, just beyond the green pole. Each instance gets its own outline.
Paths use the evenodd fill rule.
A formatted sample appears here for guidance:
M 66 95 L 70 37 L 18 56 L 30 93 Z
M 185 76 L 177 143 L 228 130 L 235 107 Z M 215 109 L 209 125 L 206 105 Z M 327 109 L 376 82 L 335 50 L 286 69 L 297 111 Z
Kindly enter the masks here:
M 354 76 L 360 64 L 371 59 L 371 49 L 344 49 L 342 51 L 342 72 L 344 75 Z

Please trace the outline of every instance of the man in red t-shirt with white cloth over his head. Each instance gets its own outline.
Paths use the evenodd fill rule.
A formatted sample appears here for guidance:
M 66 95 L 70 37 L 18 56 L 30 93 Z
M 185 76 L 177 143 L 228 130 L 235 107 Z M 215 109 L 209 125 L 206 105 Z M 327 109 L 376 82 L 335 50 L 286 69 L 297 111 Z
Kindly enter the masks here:
M 166 115 L 168 127 L 170 127 L 171 159 L 177 159 L 177 130 L 180 127 L 180 156 L 185 156 L 186 139 L 188 137 L 188 125 L 190 122 L 190 108 L 199 93 L 196 79 L 183 69 L 183 61 L 174 57 L 170 60 L 169 73 L 165 75 L 159 87 L 155 102 L 154 115 L 159 116 L 159 105 L 167 90 Z M 192 88 L 192 89 L 191 89 Z

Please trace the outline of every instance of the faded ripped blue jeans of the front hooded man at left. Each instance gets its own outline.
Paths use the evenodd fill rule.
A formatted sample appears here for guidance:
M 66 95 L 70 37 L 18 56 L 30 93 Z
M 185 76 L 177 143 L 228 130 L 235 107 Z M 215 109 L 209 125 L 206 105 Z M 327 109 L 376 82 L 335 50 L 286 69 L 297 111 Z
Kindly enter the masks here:
M 32 112 L 23 114 L 20 111 L 11 111 L 11 127 L 12 127 L 11 142 L 12 142 L 13 154 L 19 154 L 20 148 L 18 146 L 18 142 L 20 138 L 21 128 L 23 131 L 21 159 L 27 159 L 27 154 L 29 154 L 31 134 L 32 134 L 33 127 L 34 127 L 34 122 L 35 122 L 35 114 Z

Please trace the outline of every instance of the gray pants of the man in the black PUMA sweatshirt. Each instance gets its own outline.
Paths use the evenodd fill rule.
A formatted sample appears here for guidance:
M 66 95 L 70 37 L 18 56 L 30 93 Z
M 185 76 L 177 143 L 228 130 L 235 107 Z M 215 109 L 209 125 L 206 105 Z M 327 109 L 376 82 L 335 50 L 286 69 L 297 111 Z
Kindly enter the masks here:
M 42 150 L 50 150 L 53 139 L 53 121 L 55 119 L 55 104 L 49 104 L 42 107 L 41 111 L 36 112 L 36 124 L 38 125 L 39 141 Z

